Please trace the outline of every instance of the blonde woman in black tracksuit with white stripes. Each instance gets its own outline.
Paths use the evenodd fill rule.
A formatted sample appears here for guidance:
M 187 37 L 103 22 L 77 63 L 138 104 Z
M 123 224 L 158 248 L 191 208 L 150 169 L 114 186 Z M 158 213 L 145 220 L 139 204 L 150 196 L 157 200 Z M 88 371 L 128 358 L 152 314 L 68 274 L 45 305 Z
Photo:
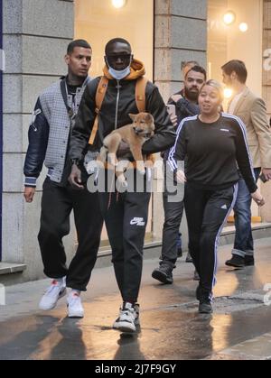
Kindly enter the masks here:
M 222 100 L 220 83 L 207 81 L 199 96 L 201 114 L 182 120 L 169 155 L 177 180 L 186 182 L 184 207 L 189 249 L 201 279 L 196 292 L 201 313 L 212 312 L 220 232 L 236 200 L 240 173 L 257 205 L 265 203 L 255 182 L 245 125 L 236 116 L 220 113 Z M 185 156 L 184 174 L 178 161 Z

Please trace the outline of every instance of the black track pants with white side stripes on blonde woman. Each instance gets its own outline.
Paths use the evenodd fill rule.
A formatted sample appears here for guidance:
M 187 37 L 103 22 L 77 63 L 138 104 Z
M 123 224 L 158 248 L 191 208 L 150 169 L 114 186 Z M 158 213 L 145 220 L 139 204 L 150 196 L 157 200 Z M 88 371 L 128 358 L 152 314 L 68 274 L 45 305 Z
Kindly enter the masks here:
M 189 250 L 200 274 L 201 298 L 211 299 L 216 283 L 218 247 L 222 226 L 234 206 L 238 184 L 220 190 L 185 185 L 184 207 L 189 232 Z

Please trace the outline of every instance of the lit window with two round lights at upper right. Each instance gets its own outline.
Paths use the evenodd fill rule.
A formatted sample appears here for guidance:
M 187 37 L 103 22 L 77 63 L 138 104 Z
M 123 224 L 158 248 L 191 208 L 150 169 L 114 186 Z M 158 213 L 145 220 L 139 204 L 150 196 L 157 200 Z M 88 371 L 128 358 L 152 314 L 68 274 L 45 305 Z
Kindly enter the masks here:
M 248 87 L 261 96 L 262 38 L 262 0 L 209 0 L 209 78 L 221 81 L 224 63 L 243 60 L 248 68 Z

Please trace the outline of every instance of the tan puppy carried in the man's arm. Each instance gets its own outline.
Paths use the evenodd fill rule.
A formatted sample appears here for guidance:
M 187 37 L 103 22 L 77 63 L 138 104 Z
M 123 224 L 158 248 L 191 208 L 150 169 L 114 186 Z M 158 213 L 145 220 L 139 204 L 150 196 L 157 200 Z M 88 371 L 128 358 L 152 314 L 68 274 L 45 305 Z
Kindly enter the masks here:
M 150 139 L 154 135 L 154 117 L 149 113 L 138 113 L 137 115 L 129 114 L 132 119 L 132 124 L 126 124 L 112 133 L 108 134 L 104 139 L 103 147 L 100 149 L 98 161 L 108 161 L 117 166 L 117 150 L 121 141 L 127 143 L 130 147 L 130 151 L 136 162 L 136 169 L 145 174 L 144 157 L 142 155 L 142 145 L 146 140 Z M 120 165 L 120 164 L 119 164 Z M 121 167 L 117 167 L 116 170 L 117 179 L 121 185 L 126 186 L 126 178 L 124 176 L 124 170 Z

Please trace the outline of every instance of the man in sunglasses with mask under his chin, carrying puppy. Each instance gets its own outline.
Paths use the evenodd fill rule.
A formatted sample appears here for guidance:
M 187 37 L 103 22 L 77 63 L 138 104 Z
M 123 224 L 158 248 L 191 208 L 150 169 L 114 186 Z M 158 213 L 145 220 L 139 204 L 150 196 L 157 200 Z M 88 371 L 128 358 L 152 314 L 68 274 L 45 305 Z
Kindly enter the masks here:
M 99 126 L 94 147 L 99 148 L 103 138 L 114 129 L 130 124 L 129 113 L 136 114 L 136 80 L 145 74 L 144 66 L 132 55 L 128 41 L 117 38 L 106 46 L 107 92 L 99 112 Z M 82 98 L 76 124 L 70 141 L 70 159 L 73 162 L 70 182 L 80 187 L 80 171 L 77 167 L 89 143 L 96 115 L 96 92 L 100 78 L 92 80 Z M 164 101 L 151 82 L 145 88 L 145 111 L 154 116 L 154 137 L 146 141 L 142 152 L 161 152 L 173 145 L 175 133 Z M 146 174 L 144 180 L 146 181 Z M 115 184 L 115 177 L 113 177 Z M 110 186 L 110 185 L 109 185 Z M 114 185 L 115 187 L 115 185 Z M 123 332 L 135 332 L 138 324 L 136 304 L 142 275 L 143 246 L 151 193 L 147 190 L 111 192 L 110 188 L 99 193 L 107 234 L 112 247 L 113 264 L 123 305 L 114 328 Z

